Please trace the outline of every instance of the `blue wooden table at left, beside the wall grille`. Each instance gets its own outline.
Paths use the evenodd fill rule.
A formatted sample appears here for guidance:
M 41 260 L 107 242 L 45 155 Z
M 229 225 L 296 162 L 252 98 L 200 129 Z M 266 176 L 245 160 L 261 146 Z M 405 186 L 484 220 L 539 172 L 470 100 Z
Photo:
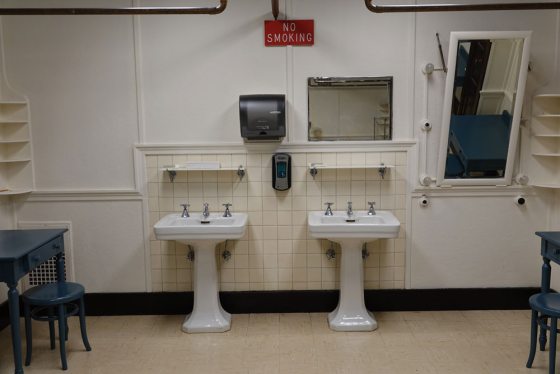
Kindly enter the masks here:
M 56 274 L 64 280 L 64 237 L 67 229 L 0 230 L 0 281 L 8 285 L 8 304 L 15 373 L 22 374 L 19 335 L 18 281 L 27 273 L 56 256 Z

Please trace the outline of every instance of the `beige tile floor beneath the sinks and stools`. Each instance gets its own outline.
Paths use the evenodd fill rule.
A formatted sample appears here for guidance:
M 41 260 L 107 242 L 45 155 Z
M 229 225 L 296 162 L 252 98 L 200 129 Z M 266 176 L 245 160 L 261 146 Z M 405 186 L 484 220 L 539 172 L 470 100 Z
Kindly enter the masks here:
M 86 352 L 76 318 L 68 373 L 547 373 L 547 352 L 525 368 L 529 311 L 376 313 L 374 332 L 329 330 L 326 314 L 238 314 L 221 334 L 185 334 L 183 316 L 88 317 Z M 26 373 L 62 373 L 34 324 Z M 9 329 L 0 332 L 0 373 L 13 373 Z M 548 347 L 547 347 L 548 348 Z

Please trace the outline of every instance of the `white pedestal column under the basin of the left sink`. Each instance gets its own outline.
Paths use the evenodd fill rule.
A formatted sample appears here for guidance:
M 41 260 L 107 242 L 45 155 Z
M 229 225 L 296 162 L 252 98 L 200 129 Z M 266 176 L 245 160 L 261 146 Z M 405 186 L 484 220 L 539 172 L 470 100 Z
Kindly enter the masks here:
M 189 241 L 194 248 L 194 305 L 185 318 L 182 330 L 187 333 L 224 332 L 231 328 L 231 314 L 220 303 L 216 244 L 219 241 Z

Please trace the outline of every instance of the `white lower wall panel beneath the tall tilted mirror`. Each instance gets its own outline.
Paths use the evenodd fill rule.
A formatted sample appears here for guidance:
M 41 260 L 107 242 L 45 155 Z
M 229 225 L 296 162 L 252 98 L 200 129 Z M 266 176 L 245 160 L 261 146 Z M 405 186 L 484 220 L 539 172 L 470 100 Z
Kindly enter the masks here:
M 546 201 L 514 196 L 430 198 L 412 204 L 414 288 L 523 287 L 540 282 L 540 241 Z M 512 209 L 513 208 L 513 209 Z M 546 217 L 544 217 L 546 218 Z

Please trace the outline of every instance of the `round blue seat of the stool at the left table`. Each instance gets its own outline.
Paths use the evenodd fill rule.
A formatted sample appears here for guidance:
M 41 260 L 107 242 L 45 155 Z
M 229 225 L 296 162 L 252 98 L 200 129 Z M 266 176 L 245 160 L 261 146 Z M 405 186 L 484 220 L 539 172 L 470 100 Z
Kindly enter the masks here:
M 84 295 L 81 284 L 73 282 L 48 283 L 31 288 L 22 294 L 23 301 L 32 305 L 58 305 Z

